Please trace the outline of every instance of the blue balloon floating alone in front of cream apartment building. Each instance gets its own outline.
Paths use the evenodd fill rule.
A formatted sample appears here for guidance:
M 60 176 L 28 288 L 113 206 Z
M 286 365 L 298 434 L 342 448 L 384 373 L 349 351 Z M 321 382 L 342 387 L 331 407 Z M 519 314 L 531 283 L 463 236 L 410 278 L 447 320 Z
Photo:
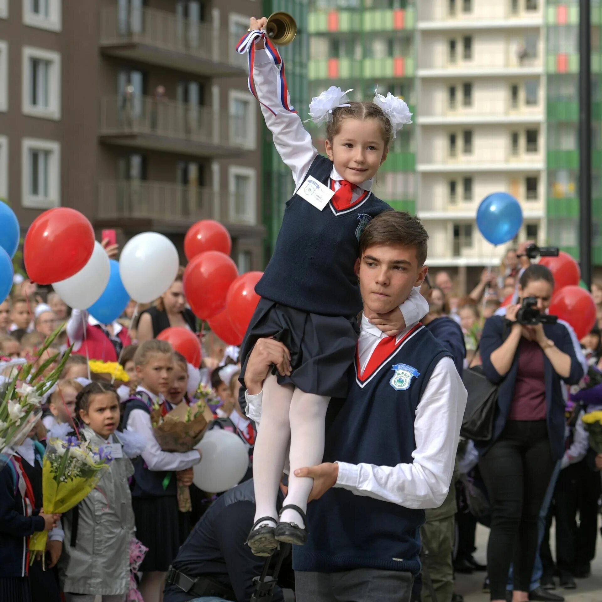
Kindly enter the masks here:
M 504 244 L 512 240 L 522 225 L 523 209 L 512 194 L 489 194 L 477 209 L 477 226 L 491 244 Z

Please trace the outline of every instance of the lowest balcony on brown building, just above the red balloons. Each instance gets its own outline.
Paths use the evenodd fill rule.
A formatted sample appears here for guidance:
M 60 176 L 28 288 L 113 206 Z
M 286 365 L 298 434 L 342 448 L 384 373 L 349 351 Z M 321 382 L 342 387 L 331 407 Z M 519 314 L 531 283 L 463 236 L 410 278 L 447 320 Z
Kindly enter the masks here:
M 213 219 L 232 235 L 257 234 L 256 207 L 227 191 L 143 180 L 99 182 L 96 225 L 185 232 L 197 220 Z M 261 232 L 259 232 L 261 234 Z

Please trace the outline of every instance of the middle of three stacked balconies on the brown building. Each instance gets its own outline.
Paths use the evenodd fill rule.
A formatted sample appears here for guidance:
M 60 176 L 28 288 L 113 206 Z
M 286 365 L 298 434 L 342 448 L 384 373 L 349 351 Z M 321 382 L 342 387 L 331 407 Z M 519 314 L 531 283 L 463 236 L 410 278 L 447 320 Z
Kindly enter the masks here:
M 252 148 L 247 120 L 150 96 L 101 99 L 100 138 L 107 144 L 194 157 L 229 157 Z

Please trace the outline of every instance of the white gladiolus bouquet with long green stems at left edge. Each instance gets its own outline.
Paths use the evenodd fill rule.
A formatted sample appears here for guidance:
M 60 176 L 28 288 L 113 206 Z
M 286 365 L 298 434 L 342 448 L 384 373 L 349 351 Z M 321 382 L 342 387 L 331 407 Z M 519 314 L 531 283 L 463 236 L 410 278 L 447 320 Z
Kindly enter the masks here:
M 42 398 L 55 385 L 71 349 L 50 374 L 45 371 L 58 360 L 59 354 L 39 364 L 39 358 L 57 338 L 55 330 L 31 361 L 11 360 L 1 362 L 0 376 L 0 468 L 8 461 L 12 450 L 25 441 L 26 436 L 42 415 Z

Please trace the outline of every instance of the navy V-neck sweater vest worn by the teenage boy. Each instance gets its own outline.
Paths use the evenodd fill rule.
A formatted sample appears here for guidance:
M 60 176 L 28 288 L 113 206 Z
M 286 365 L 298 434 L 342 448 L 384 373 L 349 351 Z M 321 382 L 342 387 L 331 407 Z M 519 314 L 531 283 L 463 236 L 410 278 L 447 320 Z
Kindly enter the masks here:
M 375 350 L 372 359 L 379 350 Z M 390 353 L 390 352 L 389 352 Z M 450 353 L 422 324 L 370 372 L 350 370 L 346 402 L 326 431 L 324 462 L 411 464 L 414 418 L 430 375 Z M 297 571 L 336 573 L 355 568 L 420 572 L 424 510 L 332 488 L 308 506 L 309 539 L 295 547 Z

